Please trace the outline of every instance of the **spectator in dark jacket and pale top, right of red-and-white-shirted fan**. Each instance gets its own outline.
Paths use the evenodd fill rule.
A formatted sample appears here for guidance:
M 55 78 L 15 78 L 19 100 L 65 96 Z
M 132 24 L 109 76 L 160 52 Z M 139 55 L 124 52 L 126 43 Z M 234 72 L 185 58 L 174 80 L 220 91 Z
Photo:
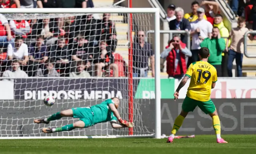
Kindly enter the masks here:
M 60 29 L 50 19 L 39 19 L 37 23 L 32 26 L 31 37 L 35 40 L 36 36 L 42 35 L 46 45 L 54 45 L 58 39 Z

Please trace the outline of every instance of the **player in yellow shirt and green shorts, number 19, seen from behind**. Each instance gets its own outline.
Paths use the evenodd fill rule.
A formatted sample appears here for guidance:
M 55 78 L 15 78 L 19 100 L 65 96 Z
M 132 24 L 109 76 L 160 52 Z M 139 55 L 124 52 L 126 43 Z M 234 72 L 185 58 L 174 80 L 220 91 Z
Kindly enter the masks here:
M 174 121 L 172 134 L 167 140 L 168 143 L 173 142 L 174 136 L 178 129 L 180 129 L 188 112 L 194 111 L 196 106 L 200 107 L 204 113 L 209 114 L 212 117 L 213 128 L 217 136 L 217 143 L 227 143 L 220 137 L 220 119 L 215 105 L 210 98 L 211 89 L 215 87 L 217 82 L 217 71 L 214 66 L 207 62 L 208 57 L 210 56 L 208 48 L 202 47 L 199 50 L 198 56 L 200 61 L 190 64 L 184 78 L 174 93 L 174 100 L 176 100 L 178 99 L 180 89 L 186 84 L 188 79 L 191 78 L 187 95 L 182 103 L 182 111 Z

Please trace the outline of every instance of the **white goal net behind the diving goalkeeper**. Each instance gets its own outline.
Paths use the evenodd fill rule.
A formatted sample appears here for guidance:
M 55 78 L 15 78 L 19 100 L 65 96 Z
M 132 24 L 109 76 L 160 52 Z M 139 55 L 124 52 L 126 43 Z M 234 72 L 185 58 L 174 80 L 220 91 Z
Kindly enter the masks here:
M 127 8 L 112 7 L 94 8 L 92 14 L 88 10 L 81 13 L 80 9 L 77 13 L 46 9 L 45 13 L 22 13 L 26 10 L 20 9 L 19 13 L 2 14 L 13 39 L 1 47 L 0 138 L 155 135 L 155 79 L 150 78 L 155 40 L 150 35 L 145 39 L 146 31 L 154 29 L 155 14 L 152 10 L 146 13 L 149 9 L 132 13 L 133 9 L 129 12 Z M 142 41 L 144 47 L 140 46 Z M 56 98 L 52 107 L 44 105 L 46 95 Z M 44 127 L 62 127 L 78 119 L 64 117 L 48 125 L 33 123 L 34 119 L 96 105 L 111 97 L 120 98 L 118 111 L 122 119 L 134 122 L 133 129 L 112 129 L 106 122 L 44 134 Z

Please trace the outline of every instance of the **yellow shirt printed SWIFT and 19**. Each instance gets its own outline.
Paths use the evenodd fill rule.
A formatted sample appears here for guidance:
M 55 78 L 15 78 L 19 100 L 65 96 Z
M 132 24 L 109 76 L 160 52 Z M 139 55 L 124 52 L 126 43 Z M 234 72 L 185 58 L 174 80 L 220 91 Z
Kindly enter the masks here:
M 217 81 L 216 68 L 208 62 L 193 62 L 185 75 L 191 78 L 187 96 L 198 101 L 210 100 L 212 83 Z

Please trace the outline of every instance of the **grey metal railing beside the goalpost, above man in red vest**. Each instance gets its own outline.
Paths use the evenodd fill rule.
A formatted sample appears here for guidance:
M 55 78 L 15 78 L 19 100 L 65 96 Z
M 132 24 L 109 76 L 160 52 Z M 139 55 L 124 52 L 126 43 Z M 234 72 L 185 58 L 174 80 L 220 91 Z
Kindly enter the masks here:
M 155 31 L 153 31 L 153 30 L 146 31 L 146 37 L 145 37 L 146 41 L 148 40 L 149 33 L 155 33 Z M 160 30 L 160 34 L 169 34 L 169 40 L 172 39 L 173 33 L 187 34 L 188 42 L 186 43 L 186 45 L 187 45 L 188 49 L 190 50 L 190 33 L 188 31 L 185 31 L 185 30 Z M 183 43 L 185 43 L 185 42 L 183 42 Z

